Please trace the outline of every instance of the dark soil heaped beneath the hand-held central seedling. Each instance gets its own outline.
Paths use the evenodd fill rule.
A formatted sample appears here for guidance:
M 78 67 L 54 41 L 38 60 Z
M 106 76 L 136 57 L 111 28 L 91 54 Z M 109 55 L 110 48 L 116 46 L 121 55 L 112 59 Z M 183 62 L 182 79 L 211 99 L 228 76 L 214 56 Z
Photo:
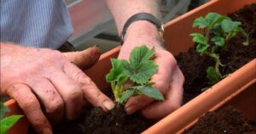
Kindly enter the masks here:
M 112 90 L 104 91 L 113 98 Z M 62 121 L 53 127 L 54 134 L 138 134 L 154 125 L 156 120 L 148 120 L 143 115 L 126 114 L 121 105 L 117 105 L 108 113 L 91 105 L 84 106 L 83 113 L 72 121 Z M 31 128 L 28 134 L 35 134 Z

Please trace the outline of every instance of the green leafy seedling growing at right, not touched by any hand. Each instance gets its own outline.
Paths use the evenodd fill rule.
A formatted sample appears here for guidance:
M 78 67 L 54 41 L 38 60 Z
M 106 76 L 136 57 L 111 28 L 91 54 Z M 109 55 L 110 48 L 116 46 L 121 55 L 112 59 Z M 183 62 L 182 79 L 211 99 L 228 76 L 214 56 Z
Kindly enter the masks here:
M 230 39 L 238 33 L 246 38 L 245 42 L 242 42 L 245 46 L 249 44 L 249 37 L 241 28 L 241 22 L 232 21 L 229 17 L 216 13 L 209 13 L 205 18 L 195 19 L 192 26 L 198 26 L 205 31 L 204 34 L 192 33 L 190 36 L 196 43 L 195 50 L 209 56 L 216 62 L 214 67 L 210 66 L 207 69 L 209 84 L 213 85 L 224 77 L 219 70 L 219 66 L 223 66 L 223 64 L 220 62 L 218 52 L 224 51 Z

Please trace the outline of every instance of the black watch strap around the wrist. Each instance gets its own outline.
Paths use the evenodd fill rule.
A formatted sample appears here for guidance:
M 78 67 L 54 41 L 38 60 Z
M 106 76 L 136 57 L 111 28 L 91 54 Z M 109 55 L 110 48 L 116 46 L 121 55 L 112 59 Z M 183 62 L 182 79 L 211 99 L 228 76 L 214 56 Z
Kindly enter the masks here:
M 126 34 L 126 31 L 127 31 L 127 28 L 129 27 L 129 25 L 131 25 L 132 22 L 137 21 L 137 20 L 148 20 L 149 22 L 154 24 L 157 27 L 157 29 L 159 30 L 160 36 L 163 38 L 163 36 L 164 36 L 164 26 L 160 22 L 160 20 L 156 19 L 152 14 L 138 13 L 138 14 L 132 15 L 131 18 L 129 18 L 125 22 L 125 25 L 123 27 L 123 31 L 121 31 L 121 35 L 120 35 L 121 45 L 123 45 L 123 43 L 124 43 L 124 39 L 125 39 L 125 34 Z

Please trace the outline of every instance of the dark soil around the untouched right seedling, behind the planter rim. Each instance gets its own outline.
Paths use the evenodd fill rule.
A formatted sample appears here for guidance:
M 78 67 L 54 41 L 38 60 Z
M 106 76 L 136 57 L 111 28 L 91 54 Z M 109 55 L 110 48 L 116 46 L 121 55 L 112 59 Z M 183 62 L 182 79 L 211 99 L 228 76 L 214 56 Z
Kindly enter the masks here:
M 241 35 L 233 37 L 227 43 L 228 51 L 220 53 L 221 63 L 224 64 L 221 70 L 225 75 L 256 58 L 256 3 L 247 5 L 229 16 L 232 20 L 241 21 L 242 28 L 250 36 L 250 44 L 243 46 L 245 38 Z M 187 103 L 199 95 L 202 88 L 211 87 L 207 83 L 207 67 L 214 66 L 215 62 L 196 53 L 194 48 L 190 48 L 187 53 L 178 54 L 176 59 L 185 77 L 183 103 Z

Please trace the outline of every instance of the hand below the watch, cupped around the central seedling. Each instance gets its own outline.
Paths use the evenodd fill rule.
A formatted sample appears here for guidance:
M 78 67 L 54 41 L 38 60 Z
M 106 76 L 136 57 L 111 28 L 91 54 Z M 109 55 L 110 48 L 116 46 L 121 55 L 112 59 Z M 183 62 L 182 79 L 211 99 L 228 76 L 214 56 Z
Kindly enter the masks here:
M 136 22 L 138 23 L 141 22 Z M 142 22 L 143 23 L 143 22 Z M 149 48 L 155 48 L 155 64 L 158 64 L 158 70 L 155 75 L 151 78 L 154 82 L 156 89 L 164 95 L 164 101 L 154 101 L 153 98 L 148 98 L 143 95 L 130 98 L 125 103 L 125 110 L 128 114 L 133 114 L 137 110 L 147 118 L 160 119 L 165 117 L 167 114 L 172 113 L 175 109 L 179 108 L 182 103 L 183 96 L 183 81 L 184 77 L 177 67 L 177 61 L 174 59 L 172 53 L 167 52 L 161 47 L 159 35 L 155 35 L 154 31 L 150 28 L 143 28 L 148 34 L 137 34 L 138 32 L 132 32 L 133 30 L 138 31 L 131 25 L 130 32 L 126 35 L 126 40 L 120 49 L 119 59 L 129 59 L 131 50 L 133 47 L 146 45 Z M 150 25 L 151 26 L 151 25 Z M 154 26 L 154 25 L 153 25 Z M 133 33 L 133 34 L 131 34 Z M 136 33 L 136 34 L 134 34 Z

